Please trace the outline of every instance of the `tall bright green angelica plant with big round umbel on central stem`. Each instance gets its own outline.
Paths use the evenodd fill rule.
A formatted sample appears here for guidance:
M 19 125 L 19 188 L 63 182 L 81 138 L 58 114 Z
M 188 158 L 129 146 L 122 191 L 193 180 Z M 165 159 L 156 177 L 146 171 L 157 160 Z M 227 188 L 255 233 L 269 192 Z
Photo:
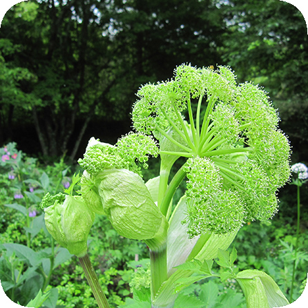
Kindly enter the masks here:
M 151 305 L 173 307 L 178 291 L 215 276 L 211 260 L 243 224 L 277 213 L 290 146 L 267 93 L 237 84 L 229 67 L 183 64 L 173 79 L 146 84 L 137 97 L 132 133 L 114 146 L 90 139 L 78 161 L 81 197 L 90 211 L 107 215 L 119 235 L 148 245 Z M 160 159 L 160 175 L 144 183 L 149 156 Z M 180 157 L 184 162 L 171 177 Z M 182 181 L 186 191 L 173 204 Z M 287 304 L 265 274 L 238 275 L 249 307 L 257 307 L 251 286 L 262 289 L 258 307 Z

